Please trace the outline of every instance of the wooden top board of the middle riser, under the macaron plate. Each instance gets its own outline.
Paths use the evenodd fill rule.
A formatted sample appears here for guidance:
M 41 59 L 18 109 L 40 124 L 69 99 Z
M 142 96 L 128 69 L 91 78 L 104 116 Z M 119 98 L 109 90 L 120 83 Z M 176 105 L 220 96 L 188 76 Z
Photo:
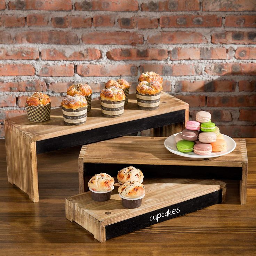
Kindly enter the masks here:
M 85 152 L 83 162 L 242 167 L 242 163 L 247 161 L 244 140 L 234 139 L 237 146 L 230 154 L 205 161 L 202 158 L 184 158 L 169 152 L 164 145 L 165 139 L 125 136 L 85 145 L 82 147 Z

